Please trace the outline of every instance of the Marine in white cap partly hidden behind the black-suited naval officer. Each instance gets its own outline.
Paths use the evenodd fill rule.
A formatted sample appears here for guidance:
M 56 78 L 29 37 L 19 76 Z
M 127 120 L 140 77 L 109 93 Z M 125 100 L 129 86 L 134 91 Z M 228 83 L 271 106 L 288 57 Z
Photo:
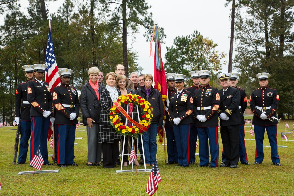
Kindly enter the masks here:
M 240 135 L 239 135 L 239 158 L 240 158 L 240 162 L 241 164 L 244 165 L 250 165 L 250 163 L 248 163 L 248 157 L 247 157 L 247 151 L 246 151 L 246 146 L 245 146 L 245 121 L 244 121 L 244 115 L 243 113 L 245 112 L 245 109 L 247 107 L 247 96 L 245 93 L 245 90 L 237 87 L 238 84 L 238 77 L 240 76 L 239 73 L 230 73 L 231 74 L 231 78 L 230 78 L 230 87 L 232 88 L 237 88 L 240 91 L 240 104 L 239 104 L 239 112 L 240 112 L 240 127 L 239 127 L 239 131 L 240 131 Z M 222 155 L 222 164 L 225 163 L 225 151 L 223 150 L 223 155 Z

